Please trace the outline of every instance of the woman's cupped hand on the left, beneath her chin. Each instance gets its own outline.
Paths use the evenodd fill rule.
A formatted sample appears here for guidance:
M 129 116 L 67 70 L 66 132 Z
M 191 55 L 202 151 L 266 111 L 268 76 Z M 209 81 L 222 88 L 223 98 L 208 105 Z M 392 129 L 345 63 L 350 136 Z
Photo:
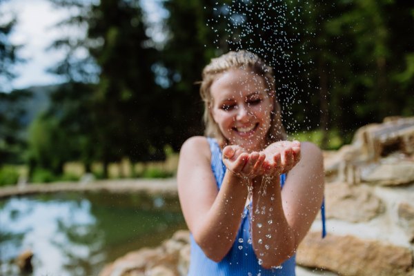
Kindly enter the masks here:
M 247 153 L 240 146 L 226 146 L 223 149 L 223 163 L 230 172 L 239 177 L 253 179 L 264 173 L 264 152 Z

